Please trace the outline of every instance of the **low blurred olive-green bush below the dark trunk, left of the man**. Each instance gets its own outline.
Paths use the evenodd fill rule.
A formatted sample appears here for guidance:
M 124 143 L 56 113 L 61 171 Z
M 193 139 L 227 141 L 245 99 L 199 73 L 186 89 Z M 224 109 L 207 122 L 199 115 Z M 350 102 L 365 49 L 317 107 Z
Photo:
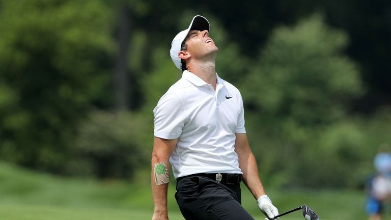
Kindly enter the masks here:
M 74 175 L 131 179 L 137 169 L 149 166 L 145 135 L 151 133 L 143 117 L 127 112 L 93 111 L 69 142 L 72 157 L 68 171 Z M 151 135 L 148 135 L 150 137 Z

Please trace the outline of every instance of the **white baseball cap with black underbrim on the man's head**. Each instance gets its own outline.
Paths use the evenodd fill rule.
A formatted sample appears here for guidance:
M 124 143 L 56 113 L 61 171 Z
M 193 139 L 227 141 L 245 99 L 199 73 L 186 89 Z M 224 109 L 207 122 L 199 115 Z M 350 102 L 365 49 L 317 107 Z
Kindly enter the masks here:
M 209 31 L 209 29 L 210 29 L 209 21 L 201 15 L 195 15 L 191 20 L 189 28 L 179 32 L 177 36 L 175 36 L 173 42 L 171 42 L 170 55 L 171 55 L 171 59 L 173 60 L 175 66 L 178 69 L 182 70 L 182 62 L 181 59 L 178 57 L 178 53 L 179 51 L 181 51 L 181 44 L 185 40 L 189 31 L 190 30 Z

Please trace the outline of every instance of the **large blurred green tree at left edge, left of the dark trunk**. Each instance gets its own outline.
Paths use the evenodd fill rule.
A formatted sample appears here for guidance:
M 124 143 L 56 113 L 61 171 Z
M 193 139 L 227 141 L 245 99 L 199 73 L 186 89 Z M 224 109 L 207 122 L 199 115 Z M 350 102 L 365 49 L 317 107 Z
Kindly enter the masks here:
M 79 119 L 108 102 L 113 14 L 95 0 L 0 4 L 0 157 L 60 172 Z

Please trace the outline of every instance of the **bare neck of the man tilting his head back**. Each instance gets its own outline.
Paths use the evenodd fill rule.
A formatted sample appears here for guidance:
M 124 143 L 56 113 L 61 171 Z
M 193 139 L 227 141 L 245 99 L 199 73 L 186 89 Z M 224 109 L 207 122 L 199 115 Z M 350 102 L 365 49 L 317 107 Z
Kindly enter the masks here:
M 192 63 L 187 70 L 200 77 L 207 84 L 212 85 L 213 89 L 216 90 L 217 76 L 214 62 Z

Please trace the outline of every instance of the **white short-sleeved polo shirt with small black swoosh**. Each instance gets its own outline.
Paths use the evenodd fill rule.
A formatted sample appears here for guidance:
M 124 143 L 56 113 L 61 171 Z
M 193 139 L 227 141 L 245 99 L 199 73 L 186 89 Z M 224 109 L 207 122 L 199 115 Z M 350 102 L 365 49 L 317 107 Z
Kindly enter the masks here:
M 196 173 L 239 173 L 235 133 L 245 133 L 239 90 L 217 76 L 212 85 L 185 70 L 153 110 L 154 135 L 176 139 L 170 156 L 174 177 Z

